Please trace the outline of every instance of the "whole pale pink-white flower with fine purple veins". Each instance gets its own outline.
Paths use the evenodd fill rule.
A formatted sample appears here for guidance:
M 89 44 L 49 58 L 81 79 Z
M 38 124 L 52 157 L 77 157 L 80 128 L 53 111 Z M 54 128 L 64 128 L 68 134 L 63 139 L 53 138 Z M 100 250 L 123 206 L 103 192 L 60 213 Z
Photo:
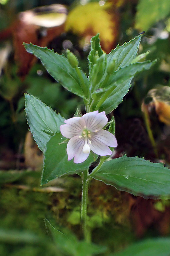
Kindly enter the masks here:
M 84 162 L 90 150 L 100 156 L 111 155 L 110 147 L 117 147 L 117 141 L 113 134 L 103 130 L 108 119 L 105 112 L 94 111 L 82 117 L 72 117 L 64 121 L 66 124 L 60 126 L 61 134 L 69 138 L 67 144 L 68 160 L 74 163 Z

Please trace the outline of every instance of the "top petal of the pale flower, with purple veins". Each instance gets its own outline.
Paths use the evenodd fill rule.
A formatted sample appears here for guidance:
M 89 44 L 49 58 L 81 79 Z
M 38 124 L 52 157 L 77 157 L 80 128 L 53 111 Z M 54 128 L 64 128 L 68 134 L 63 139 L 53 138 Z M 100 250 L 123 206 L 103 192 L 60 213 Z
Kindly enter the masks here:
M 90 112 L 82 116 L 86 122 L 86 127 L 91 132 L 101 130 L 107 124 L 107 117 L 105 112 L 98 113 L 98 111 Z

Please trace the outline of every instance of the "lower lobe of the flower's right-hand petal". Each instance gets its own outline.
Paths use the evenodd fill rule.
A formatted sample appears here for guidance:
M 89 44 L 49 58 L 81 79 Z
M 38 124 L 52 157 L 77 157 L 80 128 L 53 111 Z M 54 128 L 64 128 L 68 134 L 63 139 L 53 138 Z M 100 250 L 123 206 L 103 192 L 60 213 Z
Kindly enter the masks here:
M 91 142 L 91 143 L 90 143 Z M 97 140 L 93 136 L 88 140 L 88 145 L 90 146 L 91 150 L 99 156 L 107 156 L 111 155 L 112 151 L 106 146 L 103 142 Z

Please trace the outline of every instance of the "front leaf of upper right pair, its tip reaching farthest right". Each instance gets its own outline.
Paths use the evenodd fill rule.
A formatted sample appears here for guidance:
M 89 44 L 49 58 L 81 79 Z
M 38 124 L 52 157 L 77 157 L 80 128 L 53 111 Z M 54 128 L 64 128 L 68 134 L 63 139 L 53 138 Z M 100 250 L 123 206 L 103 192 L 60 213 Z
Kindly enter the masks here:
M 97 109 L 100 112 L 105 111 L 106 114 L 109 114 L 122 102 L 123 97 L 128 93 L 130 88 L 130 83 L 135 74 L 142 72 L 143 70 L 148 70 L 156 61 L 145 61 L 137 62 L 130 64 L 124 68 L 120 68 L 108 79 L 108 87 L 104 88 L 105 92 L 102 93 L 102 96 L 99 96 L 94 100 L 93 109 L 95 109 L 95 103 Z M 94 98 L 93 93 L 92 97 Z M 107 95 L 107 97 L 106 97 Z M 105 101 L 102 105 L 99 105 L 102 99 L 105 98 Z

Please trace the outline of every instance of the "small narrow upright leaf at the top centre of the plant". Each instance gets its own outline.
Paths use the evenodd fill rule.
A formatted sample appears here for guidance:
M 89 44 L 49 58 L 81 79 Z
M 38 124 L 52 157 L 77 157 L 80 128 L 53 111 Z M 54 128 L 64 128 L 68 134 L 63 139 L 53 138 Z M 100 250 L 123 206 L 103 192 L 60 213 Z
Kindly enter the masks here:
M 88 55 L 88 61 L 89 61 L 89 74 L 92 72 L 93 65 L 95 64 L 94 61 L 94 55 L 96 52 L 98 52 L 98 56 L 100 57 L 103 54 L 103 51 L 100 46 L 100 39 L 99 34 L 93 36 L 90 40 L 91 42 L 91 50 Z

